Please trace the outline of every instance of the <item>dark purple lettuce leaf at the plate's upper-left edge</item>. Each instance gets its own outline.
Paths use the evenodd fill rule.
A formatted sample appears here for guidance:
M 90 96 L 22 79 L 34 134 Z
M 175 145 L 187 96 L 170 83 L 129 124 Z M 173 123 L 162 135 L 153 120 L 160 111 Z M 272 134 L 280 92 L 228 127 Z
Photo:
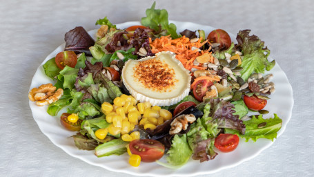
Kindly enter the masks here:
M 64 50 L 72 50 L 77 54 L 85 53 L 86 55 L 91 55 L 89 47 L 95 44 L 94 39 L 81 26 L 77 26 L 66 32 L 64 40 L 66 41 L 66 48 Z

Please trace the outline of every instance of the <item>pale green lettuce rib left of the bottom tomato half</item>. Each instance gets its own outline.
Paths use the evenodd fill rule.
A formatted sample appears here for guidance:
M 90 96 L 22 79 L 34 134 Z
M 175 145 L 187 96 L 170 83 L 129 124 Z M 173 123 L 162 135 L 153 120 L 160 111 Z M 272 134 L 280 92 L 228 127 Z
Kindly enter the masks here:
M 121 155 L 126 153 L 126 145 L 128 142 L 125 142 L 121 139 L 114 139 L 104 144 L 99 145 L 95 148 L 95 155 L 97 157 L 110 156 L 110 155 Z

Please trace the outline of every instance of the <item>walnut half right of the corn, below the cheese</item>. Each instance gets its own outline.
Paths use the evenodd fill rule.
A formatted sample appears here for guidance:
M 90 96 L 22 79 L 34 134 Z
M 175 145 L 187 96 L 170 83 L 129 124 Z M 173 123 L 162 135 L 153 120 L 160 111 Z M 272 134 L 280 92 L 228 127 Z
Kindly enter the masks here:
M 169 134 L 173 135 L 179 133 L 182 129 L 188 129 L 188 123 L 192 124 L 196 120 L 193 114 L 179 115 L 173 122 L 171 122 Z

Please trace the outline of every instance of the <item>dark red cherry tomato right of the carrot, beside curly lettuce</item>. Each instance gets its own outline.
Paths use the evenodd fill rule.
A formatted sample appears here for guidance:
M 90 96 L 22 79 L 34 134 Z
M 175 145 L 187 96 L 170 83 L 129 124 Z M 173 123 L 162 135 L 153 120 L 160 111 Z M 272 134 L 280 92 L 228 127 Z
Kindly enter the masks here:
M 219 43 L 219 48 L 229 48 L 231 46 L 231 38 L 228 32 L 222 29 L 213 30 L 207 37 L 210 43 Z

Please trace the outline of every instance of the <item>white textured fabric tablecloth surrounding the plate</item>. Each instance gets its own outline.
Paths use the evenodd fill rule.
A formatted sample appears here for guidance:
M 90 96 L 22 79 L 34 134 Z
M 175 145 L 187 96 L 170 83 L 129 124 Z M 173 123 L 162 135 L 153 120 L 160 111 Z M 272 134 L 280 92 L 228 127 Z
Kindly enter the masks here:
M 28 105 L 39 64 L 75 26 L 95 28 L 139 21 L 153 1 L 0 0 L 0 176 L 130 176 L 73 158 L 41 133 Z M 286 131 L 256 158 L 206 176 L 314 175 L 313 1 L 157 1 L 169 19 L 222 28 L 251 29 L 271 49 L 293 87 Z

